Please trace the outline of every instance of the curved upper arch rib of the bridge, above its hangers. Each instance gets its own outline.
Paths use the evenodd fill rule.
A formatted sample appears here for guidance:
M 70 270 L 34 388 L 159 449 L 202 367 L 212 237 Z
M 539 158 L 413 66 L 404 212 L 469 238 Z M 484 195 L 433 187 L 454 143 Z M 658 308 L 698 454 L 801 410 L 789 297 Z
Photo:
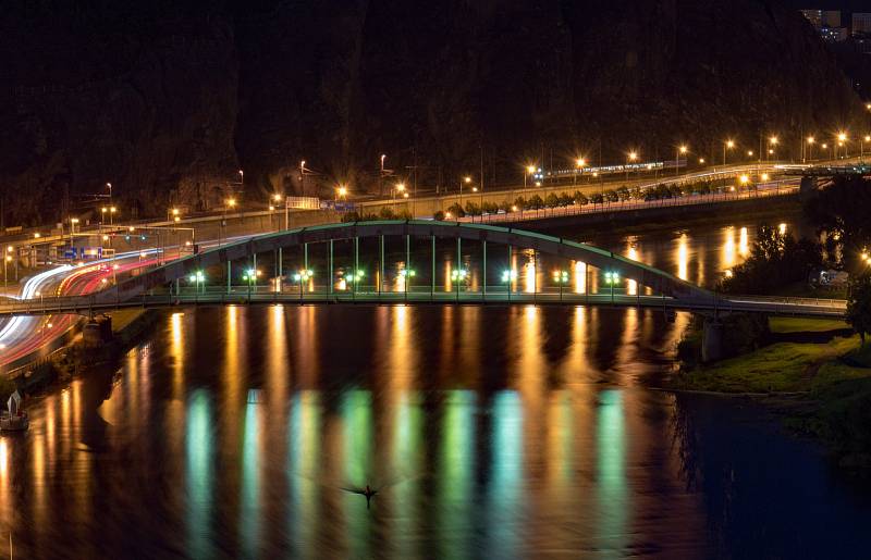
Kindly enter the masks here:
M 640 286 L 646 286 L 657 294 L 677 300 L 704 299 L 710 301 L 714 299 L 713 293 L 695 284 L 590 245 L 512 227 L 430 220 L 403 220 L 327 224 L 259 235 L 243 241 L 209 249 L 128 278 L 119 283 L 118 286 L 109 287 L 95 294 L 93 301 L 95 303 L 123 302 L 142 296 L 152 288 L 165 286 L 180 278 L 187 277 L 205 267 L 250 258 L 257 253 L 267 253 L 306 244 L 381 236 L 463 239 L 532 249 L 540 253 L 580 261 L 597 269 L 615 272 L 623 278 L 635 281 Z

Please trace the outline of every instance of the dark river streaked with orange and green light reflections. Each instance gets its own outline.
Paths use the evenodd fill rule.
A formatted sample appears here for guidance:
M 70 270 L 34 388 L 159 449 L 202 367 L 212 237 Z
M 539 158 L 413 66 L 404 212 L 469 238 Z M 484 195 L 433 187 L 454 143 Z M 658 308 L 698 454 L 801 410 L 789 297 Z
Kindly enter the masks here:
M 755 228 L 596 242 L 710 284 Z M 172 313 L 116 370 L 36 399 L 29 433 L 0 437 L 0 555 L 868 550 L 871 488 L 812 443 L 743 400 L 648 388 L 688 322 L 582 307 Z M 367 484 L 368 509 L 348 491 Z

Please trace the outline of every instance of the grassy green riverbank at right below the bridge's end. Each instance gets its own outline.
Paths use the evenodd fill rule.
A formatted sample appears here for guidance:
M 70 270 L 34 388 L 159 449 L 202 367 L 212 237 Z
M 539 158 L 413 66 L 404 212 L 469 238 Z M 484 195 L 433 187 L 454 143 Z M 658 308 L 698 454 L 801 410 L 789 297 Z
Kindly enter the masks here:
M 685 369 L 666 387 L 759 399 L 841 464 L 871 468 L 871 344 L 841 321 L 771 318 L 769 326 L 770 344 Z

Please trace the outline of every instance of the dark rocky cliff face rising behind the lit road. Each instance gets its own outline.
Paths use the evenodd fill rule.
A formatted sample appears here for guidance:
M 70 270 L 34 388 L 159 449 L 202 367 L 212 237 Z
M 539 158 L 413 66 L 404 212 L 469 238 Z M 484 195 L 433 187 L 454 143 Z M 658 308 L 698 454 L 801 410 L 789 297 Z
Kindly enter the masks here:
M 763 0 L 116 2 L 0 14 L 5 223 L 106 182 L 125 209 L 371 187 L 378 158 L 425 183 L 577 153 L 706 155 L 725 136 L 796 144 L 862 117 L 800 14 Z M 314 181 L 308 185 L 309 192 Z

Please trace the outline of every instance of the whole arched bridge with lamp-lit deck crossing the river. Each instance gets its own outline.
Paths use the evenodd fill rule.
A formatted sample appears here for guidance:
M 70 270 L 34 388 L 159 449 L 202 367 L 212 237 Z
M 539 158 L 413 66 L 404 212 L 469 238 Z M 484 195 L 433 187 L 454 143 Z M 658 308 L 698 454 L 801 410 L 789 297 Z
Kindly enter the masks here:
M 392 252 L 385 252 L 385 239 L 394 245 Z M 454 241 L 442 248 L 451 259 L 437 262 L 437 240 L 445 239 Z M 377 241 L 369 251 L 376 254 L 360 253 L 364 240 L 369 245 Z M 316 258 L 316 248 L 327 254 Z M 284 251 L 297 254 L 287 259 Z M 274 274 L 267 286 L 262 285 L 267 275 L 258 281 L 262 272 L 258 256 L 261 264 L 271 256 Z M 285 273 L 289 260 L 295 264 L 291 274 Z M 553 264 L 554 270 L 542 272 L 545 264 Z M 375 271 L 373 281 L 364 279 L 367 270 Z M 321 277 L 324 279 L 318 284 L 316 279 Z M 238 278 L 242 285 L 234 283 Z M 0 304 L 0 313 L 277 301 L 562 302 L 830 318 L 843 316 L 845 310 L 843 301 L 723 297 L 611 251 L 549 235 L 410 220 L 329 224 L 260 235 L 180 259 L 93 295 L 9 302 Z

